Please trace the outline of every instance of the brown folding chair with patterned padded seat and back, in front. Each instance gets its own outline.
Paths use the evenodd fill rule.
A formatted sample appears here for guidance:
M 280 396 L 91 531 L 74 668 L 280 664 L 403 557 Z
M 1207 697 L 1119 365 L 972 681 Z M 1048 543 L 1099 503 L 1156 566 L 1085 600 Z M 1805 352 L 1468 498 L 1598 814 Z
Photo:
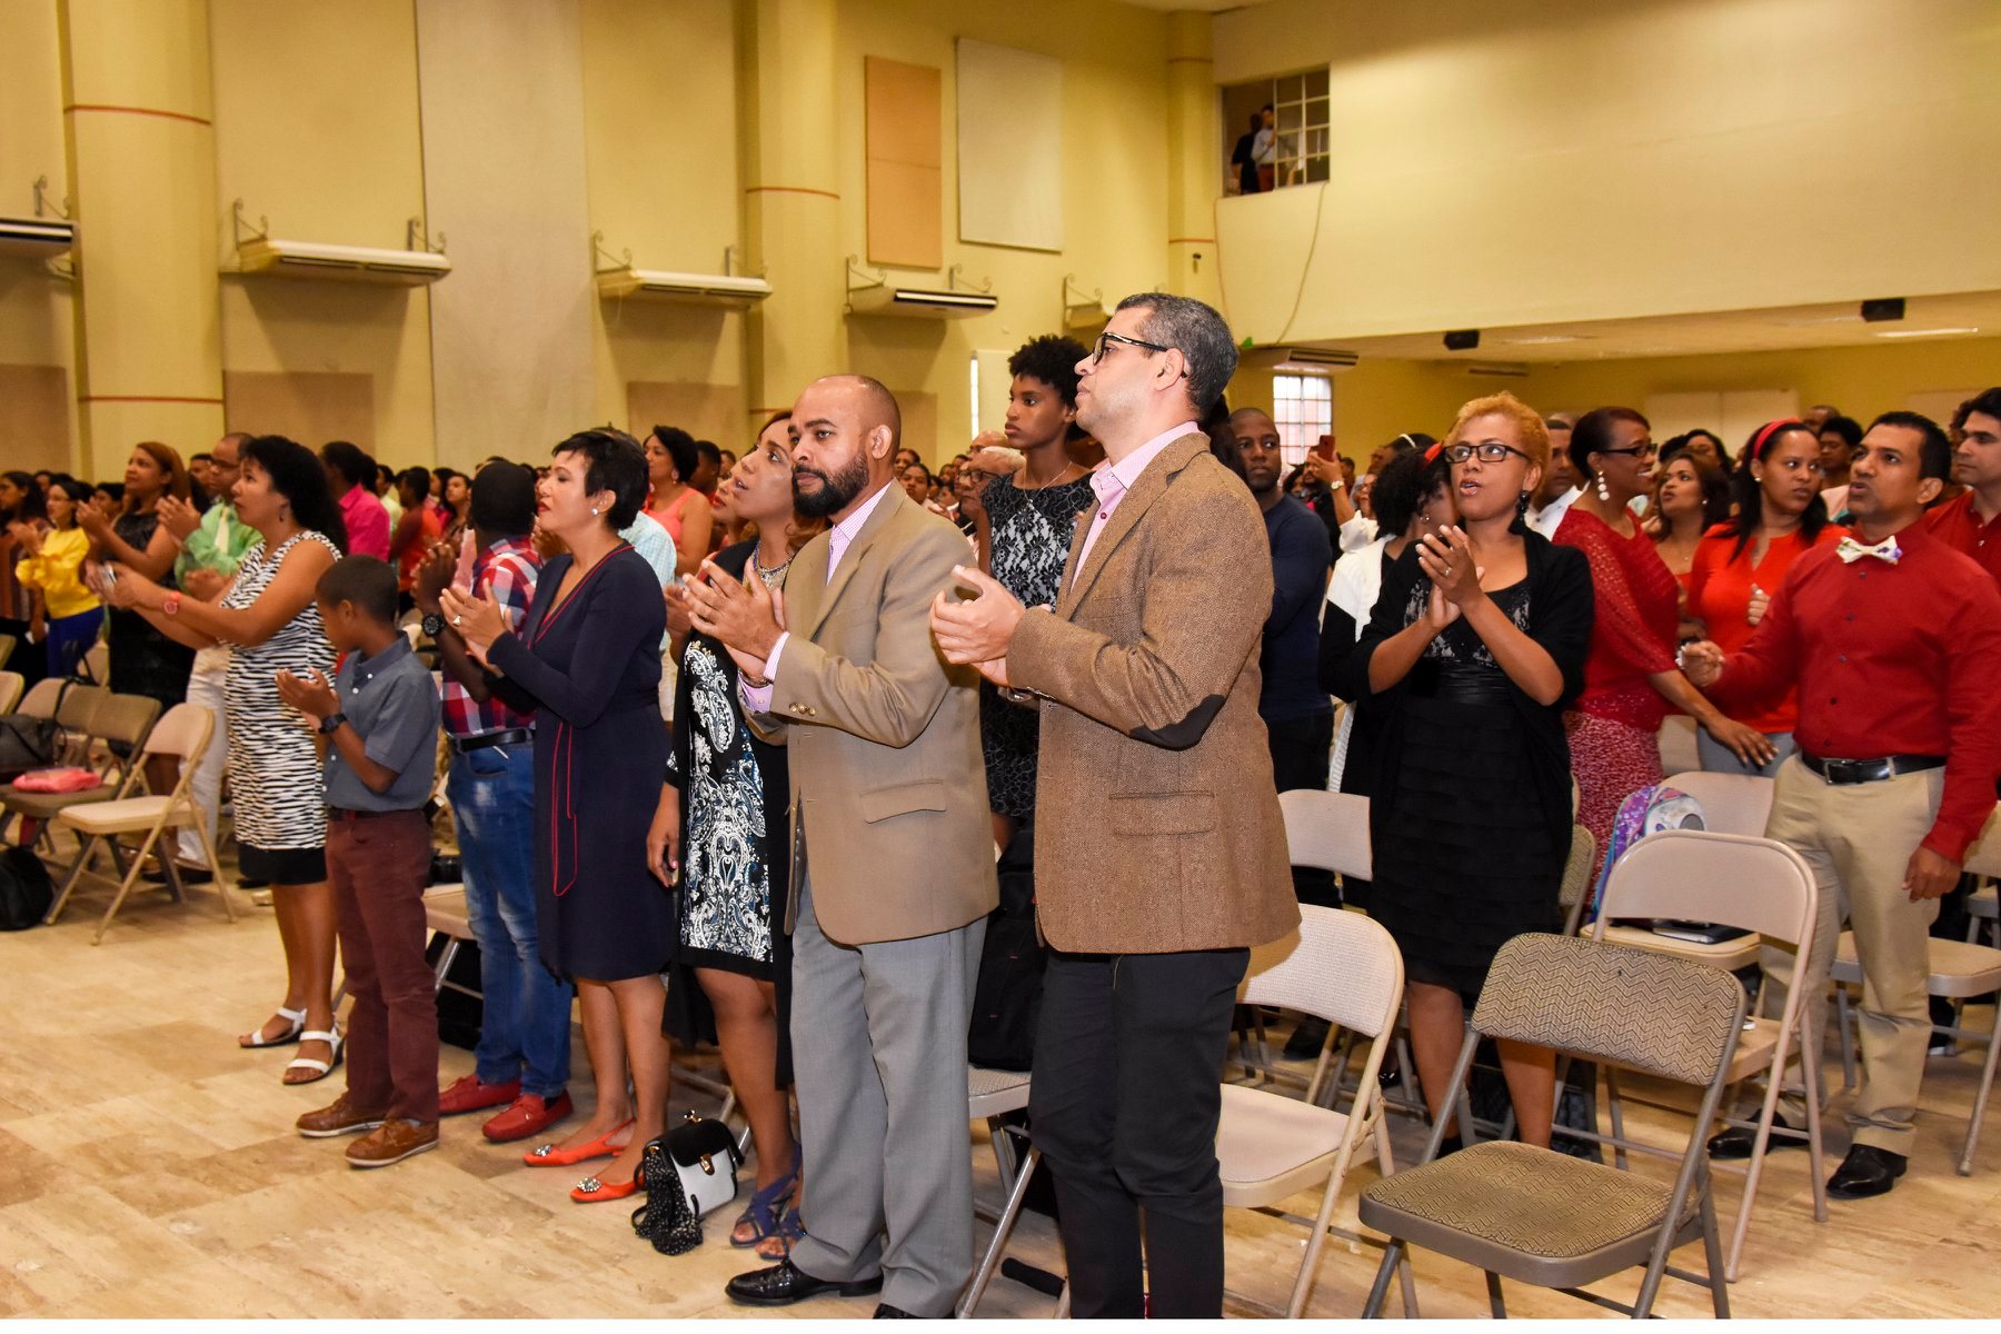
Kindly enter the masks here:
M 1737 978 L 1683 958 L 1577 936 L 1529 934 L 1501 946 L 1459 1048 L 1449 1098 L 1465 1102 L 1483 1036 L 1695 1084 L 1705 1090 L 1703 1106 L 1681 1168 L 1675 1184 L 1665 1186 L 1639 1172 L 1505 1140 L 1439 1158 L 1447 1120 L 1441 1116 L 1425 1162 L 1363 1190 L 1363 1224 L 1391 1238 L 1363 1316 L 1383 1312 L 1391 1272 L 1409 1246 L 1425 1246 L 1485 1270 L 1495 1316 L 1507 1316 L 1501 1278 L 1513 1278 L 1645 1318 L 1661 1276 L 1673 1274 L 1709 1288 L 1717 1316 L 1729 1318 L 1705 1128 L 1723 1100 L 1743 1018 Z M 1703 1242 L 1707 1274 L 1667 1262 L 1693 1240 Z M 1583 1290 L 1639 1264 L 1647 1272 L 1633 1306 Z

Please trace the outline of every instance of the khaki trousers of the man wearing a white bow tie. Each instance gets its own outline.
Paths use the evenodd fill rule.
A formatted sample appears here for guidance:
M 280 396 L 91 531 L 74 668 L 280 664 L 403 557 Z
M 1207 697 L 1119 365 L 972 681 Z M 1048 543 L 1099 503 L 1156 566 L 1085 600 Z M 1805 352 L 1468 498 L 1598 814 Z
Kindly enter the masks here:
M 1863 1004 L 1857 1012 L 1863 1088 L 1849 1112 L 1849 1128 L 1855 1144 L 1905 1156 L 1915 1138 L 1911 1118 L 1925 1080 L 1925 1048 L 1931 1046 L 1927 940 L 1939 904 L 1913 904 L 1903 872 L 1931 832 L 1943 790 L 1943 768 L 1837 786 L 1795 756 L 1779 768 L 1765 822 L 1765 836 L 1799 852 L 1821 890 L 1821 920 L 1799 980 L 1807 988 L 1807 1056 L 1819 1060 L 1823 1052 L 1827 972 L 1847 922 L 1863 966 Z M 1783 1110 L 1787 1122 L 1807 1124 L 1799 1098 L 1785 1098 Z

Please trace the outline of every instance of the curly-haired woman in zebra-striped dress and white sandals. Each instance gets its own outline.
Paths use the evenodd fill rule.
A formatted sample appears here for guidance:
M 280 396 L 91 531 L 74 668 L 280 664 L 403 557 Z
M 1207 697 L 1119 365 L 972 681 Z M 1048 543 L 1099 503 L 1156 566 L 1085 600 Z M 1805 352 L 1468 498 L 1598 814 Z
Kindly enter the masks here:
M 346 544 L 340 508 L 312 450 L 284 436 L 242 446 L 236 516 L 262 538 L 214 604 L 184 598 L 130 570 L 106 600 L 140 612 L 190 648 L 234 648 L 224 686 L 230 800 L 246 880 L 272 886 L 284 940 L 286 994 L 278 1014 L 238 1046 L 300 1044 L 286 1084 L 326 1078 L 334 1034 L 334 896 L 326 884 L 326 802 L 320 756 L 304 720 L 278 700 L 276 674 L 332 674 L 334 650 L 312 592 Z

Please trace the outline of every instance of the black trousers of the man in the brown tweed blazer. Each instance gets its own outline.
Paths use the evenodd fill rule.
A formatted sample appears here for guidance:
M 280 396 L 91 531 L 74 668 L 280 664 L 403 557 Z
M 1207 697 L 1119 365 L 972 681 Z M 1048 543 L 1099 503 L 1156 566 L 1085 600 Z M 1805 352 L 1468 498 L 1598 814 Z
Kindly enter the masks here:
M 1223 1314 L 1217 1118 L 1249 964 L 1249 950 L 1051 950 L 1029 1112 L 1079 1318 L 1139 1318 L 1147 1278 L 1155 1318 Z

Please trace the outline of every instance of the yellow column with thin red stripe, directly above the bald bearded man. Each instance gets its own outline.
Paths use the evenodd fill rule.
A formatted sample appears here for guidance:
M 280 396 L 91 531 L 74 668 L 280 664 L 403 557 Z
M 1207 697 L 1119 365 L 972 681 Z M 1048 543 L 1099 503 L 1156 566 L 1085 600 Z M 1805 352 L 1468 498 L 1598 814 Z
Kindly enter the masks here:
M 848 368 L 834 132 L 834 0 L 742 0 L 744 240 L 772 294 L 744 320 L 754 422 Z

